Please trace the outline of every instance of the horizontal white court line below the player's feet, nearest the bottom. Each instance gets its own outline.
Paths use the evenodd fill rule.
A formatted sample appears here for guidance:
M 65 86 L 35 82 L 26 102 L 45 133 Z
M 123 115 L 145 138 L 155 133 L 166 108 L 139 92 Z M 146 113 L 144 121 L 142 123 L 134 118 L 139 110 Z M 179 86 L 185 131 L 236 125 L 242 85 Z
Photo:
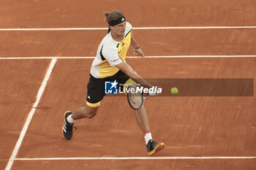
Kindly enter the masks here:
M 63 161 L 63 160 L 198 160 L 198 159 L 256 159 L 256 156 L 206 156 L 206 157 L 96 157 L 96 158 L 15 158 L 15 161 Z

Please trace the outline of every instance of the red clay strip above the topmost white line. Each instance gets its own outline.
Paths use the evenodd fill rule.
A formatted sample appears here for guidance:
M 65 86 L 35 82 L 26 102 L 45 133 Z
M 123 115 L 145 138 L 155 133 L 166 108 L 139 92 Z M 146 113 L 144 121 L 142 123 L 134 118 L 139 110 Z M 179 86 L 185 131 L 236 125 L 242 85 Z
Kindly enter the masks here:
M 134 26 L 252 26 L 254 0 L 50 1 L 2 0 L 1 28 L 107 27 L 104 13 L 120 9 Z

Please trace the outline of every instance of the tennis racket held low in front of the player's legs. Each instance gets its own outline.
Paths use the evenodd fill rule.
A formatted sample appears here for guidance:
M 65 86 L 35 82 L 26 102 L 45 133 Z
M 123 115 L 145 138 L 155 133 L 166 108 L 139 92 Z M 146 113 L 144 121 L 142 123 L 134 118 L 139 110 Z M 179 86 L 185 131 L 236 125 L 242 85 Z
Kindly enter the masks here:
M 127 88 L 127 101 L 129 103 L 129 106 L 135 110 L 140 109 L 145 99 L 149 96 L 148 93 L 136 92 L 136 88 L 138 87 L 139 87 L 138 85 L 129 85 Z

